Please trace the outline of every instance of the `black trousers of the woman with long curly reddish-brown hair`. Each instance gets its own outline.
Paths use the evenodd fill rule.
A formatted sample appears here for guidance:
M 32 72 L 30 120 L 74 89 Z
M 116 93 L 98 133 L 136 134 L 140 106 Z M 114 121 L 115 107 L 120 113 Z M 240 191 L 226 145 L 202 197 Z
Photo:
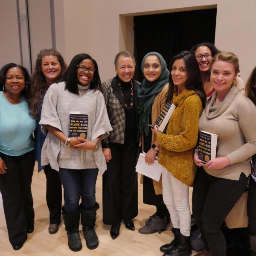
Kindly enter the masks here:
M 46 202 L 50 212 L 50 224 L 61 223 L 62 189 L 58 172 L 48 164 L 44 166 L 46 176 Z

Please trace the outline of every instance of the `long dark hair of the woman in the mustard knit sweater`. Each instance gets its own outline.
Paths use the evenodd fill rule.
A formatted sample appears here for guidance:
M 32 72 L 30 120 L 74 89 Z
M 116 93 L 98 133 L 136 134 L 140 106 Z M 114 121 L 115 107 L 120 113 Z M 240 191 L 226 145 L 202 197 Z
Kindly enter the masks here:
M 179 59 L 183 59 L 185 62 L 185 67 L 186 67 L 186 74 L 187 74 L 187 80 L 185 83 L 185 88 L 187 90 L 194 90 L 198 93 L 201 102 L 202 102 L 202 106 L 203 108 L 205 107 L 205 102 L 206 102 L 206 95 L 204 92 L 204 86 L 203 86 L 203 82 L 201 79 L 201 74 L 200 74 L 200 70 L 198 67 L 198 62 L 195 58 L 195 55 L 192 52 L 189 51 L 183 51 L 178 53 L 177 55 L 175 55 L 174 57 L 172 57 L 171 61 L 170 61 L 170 67 L 172 69 L 172 65 L 174 63 L 175 60 L 179 60 Z M 167 99 L 171 101 L 172 97 L 173 97 L 173 93 L 175 93 L 177 91 L 177 86 L 175 86 L 175 84 L 172 81 L 172 75 L 170 72 L 170 76 L 169 76 L 169 91 L 168 91 L 168 95 L 167 95 Z

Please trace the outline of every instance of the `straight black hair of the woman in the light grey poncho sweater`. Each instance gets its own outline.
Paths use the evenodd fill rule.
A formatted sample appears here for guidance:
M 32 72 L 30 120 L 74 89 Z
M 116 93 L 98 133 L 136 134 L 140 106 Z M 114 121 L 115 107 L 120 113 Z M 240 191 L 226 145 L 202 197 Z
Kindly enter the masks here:
M 67 69 L 67 73 L 64 76 L 62 81 L 66 82 L 65 90 L 68 90 L 70 93 L 79 94 L 78 91 L 78 79 L 77 79 L 77 66 L 79 63 L 84 60 L 89 59 L 93 62 L 95 72 L 94 72 L 94 80 L 90 82 L 90 89 L 99 90 L 101 81 L 99 77 L 99 68 L 97 62 L 88 54 L 80 53 L 76 55 L 70 62 L 69 67 Z

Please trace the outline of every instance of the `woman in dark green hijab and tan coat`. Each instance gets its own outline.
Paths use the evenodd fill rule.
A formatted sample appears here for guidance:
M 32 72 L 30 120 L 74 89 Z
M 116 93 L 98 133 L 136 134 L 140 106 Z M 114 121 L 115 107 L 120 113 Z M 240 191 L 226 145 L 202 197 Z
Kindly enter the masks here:
M 152 134 L 148 124 L 153 124 L 166 103 L 169 89 L 169 70 L 166 61 L 158 52 L 147 53 L 142 61 L 141 70 L 145 79 L 138 89 L 140 132 L 143 138 L 143 151 L 147 152 L 145 162 L 154 163 L 158 149 L 154 142 L 156 136 Z M 161 233 L 166 230 L 167 220 L 170 215 L 163 203 L 162 180 L 157 182 L 149 177 L 142 176 L 143 203 L 154 205 L 156 212 L 148 218 L 145 225 L 139 229 L 141 234 Z

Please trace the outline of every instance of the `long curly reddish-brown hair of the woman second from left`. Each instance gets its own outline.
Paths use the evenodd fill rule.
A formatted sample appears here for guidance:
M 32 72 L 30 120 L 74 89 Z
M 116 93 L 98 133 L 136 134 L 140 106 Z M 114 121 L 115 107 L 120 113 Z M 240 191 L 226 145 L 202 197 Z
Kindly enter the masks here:
M 41 112 L 41 104 L 43 102 L 44 94 L 46 93 L 49 84 L 45 79 L 44 73 L 42 71 L 42 59 L 44 56 L 55 56 L 61 65 L 61 74 L 58 79 L 62 79 L 67 71 L 67 64 L 64 61 L 62 55 L 55 49 L 43 49 L 41 50 L 36 58 L 35 67 L 32 74 L 32 87 L 31 87 L 31 97 L 28 101 L 30 108 L 30 114 L 34 119 L 38 119 Z

